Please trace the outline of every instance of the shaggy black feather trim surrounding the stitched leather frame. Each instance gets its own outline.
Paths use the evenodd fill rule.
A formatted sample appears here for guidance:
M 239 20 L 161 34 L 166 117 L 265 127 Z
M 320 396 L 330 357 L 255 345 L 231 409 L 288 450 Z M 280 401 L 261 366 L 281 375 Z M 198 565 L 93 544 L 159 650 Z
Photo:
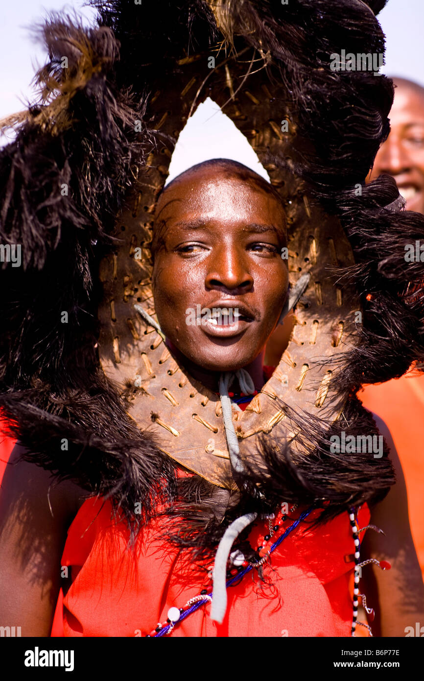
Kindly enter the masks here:
M 163 486 L 172 507 L 169 522 L 177 512 L 183 518 L 180 532 L 169 527 L 168 535 L 199 552 L 244 509 L 261 511 L 282 498 L 319 503 L 325 496 L 331 507 L 324 519 L 374 500 L 393 483 L 387 458 L 330 455 L 331 428 L 342 424 L 330 428 L 294 413 L 308 456 L 284 447 L 278 453 L 264 441 L 263 463 L 240 480 L 241 488 L 251 487 L 253 478 L 261 483 L 263 507 L 244 493 L 230 500 L 229 492 L 196 477 L 178 481 L 177 492 L 174 465 L 126 416 L 99 371 L 95 344 L 97 264 L 114 247 L 114 216 L 133 165 L 143 164 L 159 141 L 147 125 L 142 142 L 133 136 L 150 92 L 172 77 L 176 58 L 216 42 L 224 40 L 235 52 L 246 44 L 265 49 L 282 98 L 287 89 L 297 114 L 295 172 L 312 185 L 316 201 L 340 217 L 355 253 L 355 266 L 332 273 L 355 281 L 364 304 L 357 347 L 340 358 L 334 385 L 338 396 L 350 396 L 346 433 L 370 432 L 355 390 L 365 381 L 399 376 L 424 358 L 423 293 L 405 297 L 409 281 L 422 281 L 423 264 L 404 266 L 404 244 L 424 240 L 424 219 L 400 210 L 393 180 L 364 184 L 389 133 L 393 85 L 385 76 L 329 70 L 330 54 L 342 48 L 382 52 L 378 22 L 358 0 L 284 6 L 277 0 L 217 0 L 219 29 L 202 0 L 148 3 L 142 12 L 120 0 L 94 4 L 97 29 L 59 15 L 47 22 L 50 63 L 38 76 L 41 97 L 20 116 L 16 141 L 0 153 L 0 240 L 22 244 L 23 257 L 22 268 L 5 266 L 1 273 L 0 407 L 14 434 L 30 447 L 30 460 L 91 493 L 112 494 L 130 524 L 135 503 L 143 503 L 147 518 Z M 377 12 L 384 3 L 368 4 Z M 61 68 L 64 55 L 67 69 Z M 284 159 L 273 160 L 284 165 Z M 65 197 L 62 185 L 68 187 Z M 70 443 L 66 456 L 63 438 Z

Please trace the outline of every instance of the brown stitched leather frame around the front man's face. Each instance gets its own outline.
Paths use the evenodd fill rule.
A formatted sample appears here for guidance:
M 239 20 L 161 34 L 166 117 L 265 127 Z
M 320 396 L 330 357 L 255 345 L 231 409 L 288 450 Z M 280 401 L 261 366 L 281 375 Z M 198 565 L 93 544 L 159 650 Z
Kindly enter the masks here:
M 146 112 L 152 129 L 164 133 L 164 140 L 176 141 L 196 106 L 212 97 L 246 136 L 282 197 L 289 223 L 291 285 L 301 274 L 311 275 L 274 375 L 246 411 L 233 412 L 241 458 L 255 456 L 263 434 L 297 446 L 284 404 L 329 423 L 338 419 L 346 399 L 331 388 L 334 358 L 354 342 L 355 311 L 361 309 L 353 289 L 331 275 L 335 266 L 354 263 L 340 223 L 314 205 L 304 181 L 289 172 L 291 140 L 297 133 L 291 104 L 282 99 L 282 85 L 268 78 L 268 69 L 244 78 L 250 57 L 249 48 L 210 71 L 206 54 L 180 60 L 172 82 L 164 78 L 163 86 L 152 93 Z M 282 119 L 288 121 L 287 133 Z M 103 260 L 100 271 L 104 298 L 99 355 L 105 375 L 125 396 L 130 417 L 143 430 L 150 426 L 164 452 L 212 483 L 233 487 L 219 397 L 178 364 L 161 335 L 134 308 L 140 304 L 154 317 L 149 244 L 173 148 L 167 141 L 150 154 L 116 221 L 121 245 Z M 278 167 L 278 159 L 285 169 Z M 140 249 L 141 258 L 135 257 Z

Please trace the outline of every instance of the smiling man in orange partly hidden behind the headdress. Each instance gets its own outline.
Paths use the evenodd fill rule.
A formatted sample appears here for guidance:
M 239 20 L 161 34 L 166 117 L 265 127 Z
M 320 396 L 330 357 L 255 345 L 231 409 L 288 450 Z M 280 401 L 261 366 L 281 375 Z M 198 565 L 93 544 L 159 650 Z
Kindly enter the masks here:
M 391 133 L 376 155 L 369 180 L 380 174 L 395 178 L 406 209 L 424 214 L 424 88 L 394 78 Z M 424 575 L 424 379 L 408 373 L 359 393 L 364 407 L 385 420 L 402 462 L 408 490 L 410 525 Z M 408 414 L 406 426 L 405 414 Z

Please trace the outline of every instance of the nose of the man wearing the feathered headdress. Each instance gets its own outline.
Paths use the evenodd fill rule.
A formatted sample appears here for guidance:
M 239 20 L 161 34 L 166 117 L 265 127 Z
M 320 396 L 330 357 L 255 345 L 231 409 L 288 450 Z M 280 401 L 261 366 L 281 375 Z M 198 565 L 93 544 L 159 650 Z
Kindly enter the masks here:
M 246 255 L 235 244 L 223 244 L 214 251 L 205 280 L 207 289 L 246 293 L 253 287 Z

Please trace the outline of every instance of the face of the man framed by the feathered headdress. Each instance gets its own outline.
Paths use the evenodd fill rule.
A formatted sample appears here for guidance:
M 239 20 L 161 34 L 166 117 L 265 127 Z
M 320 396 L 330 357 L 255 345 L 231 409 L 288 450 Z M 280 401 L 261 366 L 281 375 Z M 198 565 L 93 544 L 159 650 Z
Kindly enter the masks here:
M 236 370 L 255 360 L 289 283 L 276 197 L 253 179 L 201 168 L 159 198 L 155 242 L 153 294 L 165 336 L 202 368 Z M 214 309 L 231 316 L 203 312 Z

